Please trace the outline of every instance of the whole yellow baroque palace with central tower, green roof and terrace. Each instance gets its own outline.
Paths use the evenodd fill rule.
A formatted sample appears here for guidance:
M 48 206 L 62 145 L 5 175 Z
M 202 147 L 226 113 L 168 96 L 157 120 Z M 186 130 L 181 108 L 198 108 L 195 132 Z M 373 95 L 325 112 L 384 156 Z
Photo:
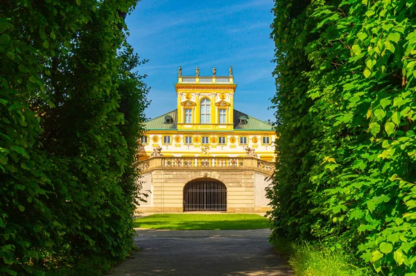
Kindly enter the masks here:
M 146 123 L 139 212 L 266 212 L 275 169 L 272 126 L 234 110 L 232 76 L 182 76 L 177 109 Z M 256 111 L 256 110 L 252 110 Z M 261 112 L 261 111 L 260 111 Z

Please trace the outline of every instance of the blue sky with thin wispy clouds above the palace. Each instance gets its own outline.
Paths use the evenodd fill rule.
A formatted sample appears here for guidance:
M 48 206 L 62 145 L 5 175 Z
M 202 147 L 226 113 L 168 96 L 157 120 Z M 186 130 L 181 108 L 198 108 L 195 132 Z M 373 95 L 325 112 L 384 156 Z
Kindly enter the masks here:
M 228 76 L 230 65 L 237 84 L 234 108 L 261 120 L 275 121 L 270 98 L 275 94 L 272 71 L 274 44 L 270 40 L 272 0 L 186 1 L 142 0 L 127 17 L 128 42 L 147 74 L 152 101 L 146 117 L 176 108 L 177 67 L 183 76 Z

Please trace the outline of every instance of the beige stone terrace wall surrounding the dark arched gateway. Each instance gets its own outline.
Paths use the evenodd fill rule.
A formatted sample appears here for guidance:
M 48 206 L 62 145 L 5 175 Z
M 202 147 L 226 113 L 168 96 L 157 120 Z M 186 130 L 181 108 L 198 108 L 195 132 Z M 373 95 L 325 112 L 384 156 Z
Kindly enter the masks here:
M 139 212 L 183 212 L 183 189 L 187 182 L 211 178 L 227 187 L 227 212 L 266 212 L 264 180 L 267 175 L 253 170 L 233 171 L 173 171 L 155 170 L 141 179 L 143 190 L 152 193 L 148 202 L 138 207 Z

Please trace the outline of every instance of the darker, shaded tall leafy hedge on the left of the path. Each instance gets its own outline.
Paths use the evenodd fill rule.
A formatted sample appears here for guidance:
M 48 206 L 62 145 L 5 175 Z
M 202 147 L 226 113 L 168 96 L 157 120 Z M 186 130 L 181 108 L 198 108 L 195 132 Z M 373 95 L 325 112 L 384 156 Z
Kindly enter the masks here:
M 126 42 L 135 0 L 0 4 L 0 274 L 132 245 L 148 88 Z

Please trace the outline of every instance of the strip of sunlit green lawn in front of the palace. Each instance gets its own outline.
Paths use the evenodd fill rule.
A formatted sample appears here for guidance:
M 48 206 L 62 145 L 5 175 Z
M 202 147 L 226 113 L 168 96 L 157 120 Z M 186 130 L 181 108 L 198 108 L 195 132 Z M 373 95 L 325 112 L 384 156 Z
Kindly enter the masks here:
M 257 214 L 154 214 L 137 218 L 135 227 L 162 230 L 240 230 L 268 228 Z

